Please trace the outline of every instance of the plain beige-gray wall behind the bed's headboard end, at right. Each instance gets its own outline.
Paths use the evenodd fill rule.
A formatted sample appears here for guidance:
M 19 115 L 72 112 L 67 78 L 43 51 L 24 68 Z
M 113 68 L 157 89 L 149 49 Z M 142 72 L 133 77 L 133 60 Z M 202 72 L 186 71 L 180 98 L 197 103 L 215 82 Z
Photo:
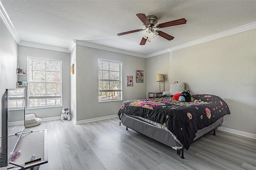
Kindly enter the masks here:
M 256 29 L 172 51 L 171 64 L 168 55 L 146 59 L 147 75 L 168 72 L 166 91 L 181 81 L 192 94 L 220 96 L 231 112 L 223 127 L 256 134 Z M 157 88 L 154 79 L 147 91 Z

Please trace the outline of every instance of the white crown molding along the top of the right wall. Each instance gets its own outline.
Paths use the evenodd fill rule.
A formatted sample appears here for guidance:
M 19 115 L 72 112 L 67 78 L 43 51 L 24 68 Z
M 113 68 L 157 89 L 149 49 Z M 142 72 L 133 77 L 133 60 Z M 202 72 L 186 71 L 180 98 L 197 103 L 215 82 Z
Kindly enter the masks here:
M 170 47 L 170 48 L 164 49 L 162 51 L 157 51 L 155 53 L 151 53 L 151 54 L 146 55 L 146 58 L 154 57 L 156 55 L 168 53 L 170 51 L 175 51 L 175 50 L 178 50 L 178 49 L 190 47 L 192 45 L 197 45 L 197 44 L 200 44 L 200 43 L 209 42 L 209 41 L 212 41 L 212 40 L 216 40 L 218 38 L 223 38 L 223 37 L 226 37 L 226 36 L 230 36 L 232 34 L 237 34 L 237 33 L 240 33 L 240 32 L 252 30 L 254 28 L 256 28 L 256 22 L 252 22 L 252 23 L 246 24 L 244 26 L 236 27 L 236 28 L 233 28 L 231 30 L 227 30 L 227 31 L 224 31 L 224 32 L 220 32 L 220 33 L 211 35 L 211 36 L 200 38 L 200 39 L 194 40 L 192 42 L 188 42 L 188 43 L 184 43 L 184 44 L 181 44 L 181 45 L 177 45 L 175 47 Z

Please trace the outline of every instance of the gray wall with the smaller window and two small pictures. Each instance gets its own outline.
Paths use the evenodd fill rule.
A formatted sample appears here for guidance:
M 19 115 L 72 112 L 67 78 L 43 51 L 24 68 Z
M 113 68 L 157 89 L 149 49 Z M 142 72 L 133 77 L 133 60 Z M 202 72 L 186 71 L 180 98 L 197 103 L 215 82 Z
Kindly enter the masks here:
M 122 62 L 122 101 L 98 102 L 98 59 Z M 76 121 L 117 115 L 125 100 L 146 97 L 144 83 L 136 83 L 135 71 L 146 71 L 146 59 L 76 45 Z M 134 86 L 126 86 L 126 75 L 133 75 Z M 74 103 L 71 103 L 72 105 Z

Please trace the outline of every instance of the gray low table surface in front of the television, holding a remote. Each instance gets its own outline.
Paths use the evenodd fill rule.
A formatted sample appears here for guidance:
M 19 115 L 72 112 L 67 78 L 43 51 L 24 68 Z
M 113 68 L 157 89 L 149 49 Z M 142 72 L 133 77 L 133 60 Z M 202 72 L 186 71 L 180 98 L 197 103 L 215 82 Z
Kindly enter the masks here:
M 36 130 L 32 132 L 24 131 L 20 137 L 19 142 L 16 145 L 14 152 L 17 150 L 22 150 L 20 154 L 14 159 L 11 160 L 7 167 L 2 167 L 4 169 L 10 168 L 10 170 L 23 170 L 28 168 L 33 168 L 35 166 L 39 166 L 41 164 L 45 164 L 48 162 L 48 155 L 47 155 L 47 130 Z M 16 141 L 18 140 L 19 135 L 11 135 L 8 136 L 8 153 L 12 152 Z M 35 154 L 36 157 L 34 160 L 41 158 L 40 161 L 36 161 L 30 164 L 25 164 L 25 162 L 29 162 L 31 156 Z M 18 167 L 12 164 L 18 164 L 23 166 Z M 13 168 L 12 168 L 13 167 Z M 0 168 L 0 170 L 2 170 Z M 3 169 L 3 170 L 4 170 Z

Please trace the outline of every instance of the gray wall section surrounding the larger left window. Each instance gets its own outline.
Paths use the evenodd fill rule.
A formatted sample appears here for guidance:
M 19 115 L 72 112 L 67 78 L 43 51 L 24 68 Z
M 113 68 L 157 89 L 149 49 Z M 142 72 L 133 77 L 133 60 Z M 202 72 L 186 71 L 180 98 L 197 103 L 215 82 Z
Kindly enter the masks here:
M 20 63 L 22 64 L 24 69 L 27 69 L 28 56 L 44 58 L 44 59 L 61 60 L 62 61 L 62 105 L 64 107 L 70 107 L 70 53 L 18 45 L 18 55 L 19 55 Z M 28 109 L 28 107 L 26 106 L 25 108 L 26 108 L 25 110 L 26 114 L 34 113 L 36 117 L 40 117 L 40 118 L 60 117 L 60 115 L 62 114 L 62 107 L 50 107 L 50 108 L 44 108 L 44 109 Z

